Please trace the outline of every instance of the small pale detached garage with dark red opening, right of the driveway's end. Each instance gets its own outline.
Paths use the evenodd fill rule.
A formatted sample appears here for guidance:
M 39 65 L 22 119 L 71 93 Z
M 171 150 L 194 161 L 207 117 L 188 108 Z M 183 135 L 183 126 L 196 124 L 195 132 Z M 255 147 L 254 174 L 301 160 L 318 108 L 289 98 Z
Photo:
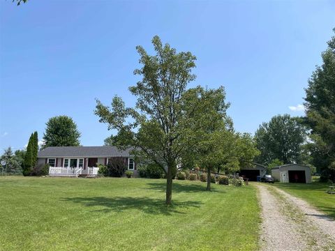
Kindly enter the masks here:
M 288 164 L 274 167 L 272 176 L 283 183 L 311 183 L 311 167 L 299 164 Z

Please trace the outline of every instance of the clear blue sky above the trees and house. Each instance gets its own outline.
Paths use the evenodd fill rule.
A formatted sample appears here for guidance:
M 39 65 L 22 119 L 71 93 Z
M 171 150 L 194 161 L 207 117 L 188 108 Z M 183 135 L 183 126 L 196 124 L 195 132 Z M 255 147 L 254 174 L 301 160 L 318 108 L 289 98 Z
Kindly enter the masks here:
M 162 1 L 163 2 L 163 1 Z M 236 130 L 276 114 L 303 115 L 304 88 L 333 35 L 335 1 L 38 1 L 0 3 L 0 150 L 73 117 L 84 146 L 110 135 L 95 98 L 135 99 L 136 45 L 161 36 L 198 57 L 191 86 L 226 88 Z

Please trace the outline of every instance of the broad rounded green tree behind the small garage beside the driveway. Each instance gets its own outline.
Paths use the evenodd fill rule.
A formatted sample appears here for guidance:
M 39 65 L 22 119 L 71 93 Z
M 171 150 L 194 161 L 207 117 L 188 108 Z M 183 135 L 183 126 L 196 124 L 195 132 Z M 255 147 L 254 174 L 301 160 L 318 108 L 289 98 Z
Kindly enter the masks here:
M 268 123 L 260 125 L 255 132 L 255 141 L 260 150 L 256 161 L 263 165 L 268 165 L 275 159 L 284 164 L 301 162 L 306 143 L 306 127 L 297 117 L 288 114 L 274 116 Z

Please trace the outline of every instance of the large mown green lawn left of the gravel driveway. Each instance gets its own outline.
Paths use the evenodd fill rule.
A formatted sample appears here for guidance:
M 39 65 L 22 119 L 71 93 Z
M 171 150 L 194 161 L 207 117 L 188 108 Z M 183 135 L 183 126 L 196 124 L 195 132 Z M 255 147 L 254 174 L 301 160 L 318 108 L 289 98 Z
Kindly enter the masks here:
M 0 250 L 257 250 L 255 187 L 204 188 L 167 208 L 163 179 L 0 178 Z

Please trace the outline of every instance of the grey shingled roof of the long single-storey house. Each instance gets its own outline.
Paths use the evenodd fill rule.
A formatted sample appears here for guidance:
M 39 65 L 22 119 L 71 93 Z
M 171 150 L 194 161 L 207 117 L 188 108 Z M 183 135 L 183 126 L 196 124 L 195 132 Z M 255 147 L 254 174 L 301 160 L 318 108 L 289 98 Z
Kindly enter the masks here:
M 131 149 L 125 151 L 116 146 L 49 146 L 38 152 L 38 158 L 48 157 L 119 157 L 129 156 Z

